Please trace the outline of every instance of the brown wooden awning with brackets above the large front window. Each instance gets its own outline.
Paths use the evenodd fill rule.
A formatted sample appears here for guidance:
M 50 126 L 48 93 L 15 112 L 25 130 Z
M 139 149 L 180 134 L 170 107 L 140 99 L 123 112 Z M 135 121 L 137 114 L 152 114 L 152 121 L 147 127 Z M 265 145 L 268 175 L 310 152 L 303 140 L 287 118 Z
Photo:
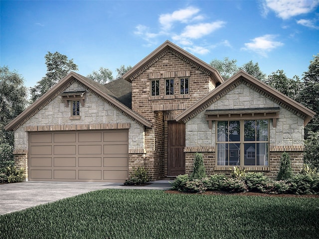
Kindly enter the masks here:
M 279 107 L 273 108 L 251 108 L 251 109 L 230 109 L 230 110 L 206 110 L 208 127 L 212 129 L 212 121 L 215 120 L 236 120 L 236 119 L 273 119 L 273 126 L 277 126 L 279 118 Z

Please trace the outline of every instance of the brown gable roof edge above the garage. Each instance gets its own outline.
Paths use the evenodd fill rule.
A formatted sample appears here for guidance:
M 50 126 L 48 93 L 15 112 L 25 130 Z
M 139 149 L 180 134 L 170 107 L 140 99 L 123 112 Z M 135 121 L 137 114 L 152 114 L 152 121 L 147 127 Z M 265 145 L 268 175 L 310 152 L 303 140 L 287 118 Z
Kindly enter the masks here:
M 59 94 L 61 94 L 64 89 L 69 87 L 71 83 L 76 80 L 88 87 L 93 93 L 102 97 L 102 99 L 107 100 L 118 110 L 122 110 L 128 117 L 131 119 L 135 119 L 140 124 L 145 125 L 147 127 L 151 127 L 152 123 L 147 119 L 144 119 L 134 111 L 132 111 L 127 106 L 123 105 L 116 99 L 116 95 L 113 94 L 109 89 L 105 86 L 88 79 L 84 76 L 81 76 L 75 72 L 69 73 L 66 77 L 60 80 L 56 85 L 54 85 L 48 92 L 46 92 L 43 96 L 41 96 L 36 102 L 34 102 L 31 106 L 29 106 L 25 111 L 23 111 L 20 115 L 18 115 L 15 119 L 13 119 L 10 123 L 8 123 L 4 129 L 5 130 L 15 130 L 17 127 L 22 125 L 27 119 L 35 115 L 42 107 L 47 105 L 50 101 L 56 98 Z

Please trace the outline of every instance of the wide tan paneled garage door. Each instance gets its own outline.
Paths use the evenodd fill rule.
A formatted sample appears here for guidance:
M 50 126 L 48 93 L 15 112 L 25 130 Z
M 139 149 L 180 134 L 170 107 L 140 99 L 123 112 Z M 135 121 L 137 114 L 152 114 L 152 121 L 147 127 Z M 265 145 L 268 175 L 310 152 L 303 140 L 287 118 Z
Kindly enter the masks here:
M 128 130 L 31 132 L 29 180 L 124 182 Z

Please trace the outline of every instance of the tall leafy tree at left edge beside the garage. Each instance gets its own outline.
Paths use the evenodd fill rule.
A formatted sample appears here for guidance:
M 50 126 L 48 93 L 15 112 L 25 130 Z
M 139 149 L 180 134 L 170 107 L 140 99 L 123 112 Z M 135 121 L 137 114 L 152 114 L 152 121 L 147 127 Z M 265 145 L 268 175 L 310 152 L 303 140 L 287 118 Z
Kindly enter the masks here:
M 25 109 L 26 99 L 23 77 L 7 66 L 0 67 L 0 161 L 13 159 L 14 133 L 4 126 Z

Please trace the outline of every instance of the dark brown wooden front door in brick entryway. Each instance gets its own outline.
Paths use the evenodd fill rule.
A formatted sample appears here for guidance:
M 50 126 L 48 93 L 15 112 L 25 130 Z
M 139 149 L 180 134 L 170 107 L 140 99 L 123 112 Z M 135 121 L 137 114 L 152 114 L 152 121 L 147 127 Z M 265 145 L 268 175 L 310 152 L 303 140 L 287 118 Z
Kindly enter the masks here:
M 167 123 L 167 176 L 185 174 L 185 124 Z

